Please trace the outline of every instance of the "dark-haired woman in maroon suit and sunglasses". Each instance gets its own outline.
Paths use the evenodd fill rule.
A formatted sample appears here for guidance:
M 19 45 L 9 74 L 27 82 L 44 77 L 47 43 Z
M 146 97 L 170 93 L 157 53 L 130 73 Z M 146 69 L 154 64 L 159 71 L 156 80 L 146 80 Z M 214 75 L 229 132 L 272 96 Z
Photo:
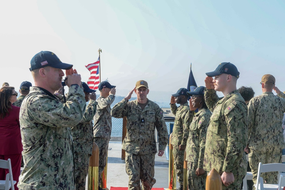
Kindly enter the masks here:
M 0 88 L 0 159 L 11 159 L 14 181 L 19 181 L 22 159 L 22 139 L 19 123 L 20 108 L 12 104 L 17 101 L 14 87 Z M 8 169 L 0 168 L 0 180 L 5 180 Z M 15 184 L 15 189 L 17 188 Z

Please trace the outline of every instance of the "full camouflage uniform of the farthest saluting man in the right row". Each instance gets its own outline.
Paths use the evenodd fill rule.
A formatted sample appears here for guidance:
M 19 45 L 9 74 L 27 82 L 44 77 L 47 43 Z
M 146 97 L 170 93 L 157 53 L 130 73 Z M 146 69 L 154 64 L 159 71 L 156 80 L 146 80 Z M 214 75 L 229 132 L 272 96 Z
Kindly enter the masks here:
M 174 168 L 177 173 L 178 183 L 183 186 L 183 165 L 184 151 L 179 150 L 179 145 L 186 145 L 189 129 L 185 130 L 184 118 L 190 110 L 188 102 L 177 108 L 176 104 L 170 103 L 172 113 L 175 115 L 173 131 L 171 135 L 171 144 L 173 145 Z M 193 116 L 193 115 L 192 115 Z M 191 123 L 191 120 L 189 121 Z

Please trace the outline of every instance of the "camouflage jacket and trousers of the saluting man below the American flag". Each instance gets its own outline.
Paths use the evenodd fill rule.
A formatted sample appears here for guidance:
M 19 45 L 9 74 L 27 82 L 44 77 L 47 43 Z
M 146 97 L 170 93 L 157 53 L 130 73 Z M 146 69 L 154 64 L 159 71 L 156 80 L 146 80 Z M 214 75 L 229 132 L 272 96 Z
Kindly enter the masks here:
M 115 96 L 110 94 L 107 98 L 100 96 L 97 99 L 97 112 L 94 116 L 93 135 L 94 142 L 99 147 L 99 184 L 101 184 L 101 173 L 106 165 L 109 140 L 112 130 L 112 118 L 110 105 L 114 102 Z

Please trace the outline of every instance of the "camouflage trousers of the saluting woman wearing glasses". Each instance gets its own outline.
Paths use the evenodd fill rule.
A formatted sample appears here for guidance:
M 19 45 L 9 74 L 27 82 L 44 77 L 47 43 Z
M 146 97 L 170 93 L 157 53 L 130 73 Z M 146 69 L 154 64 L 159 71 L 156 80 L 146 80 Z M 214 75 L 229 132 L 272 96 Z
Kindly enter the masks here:
M 196 175 L 197 163 L 187 162 L 188 190 L 205 190 L 207 172 Z

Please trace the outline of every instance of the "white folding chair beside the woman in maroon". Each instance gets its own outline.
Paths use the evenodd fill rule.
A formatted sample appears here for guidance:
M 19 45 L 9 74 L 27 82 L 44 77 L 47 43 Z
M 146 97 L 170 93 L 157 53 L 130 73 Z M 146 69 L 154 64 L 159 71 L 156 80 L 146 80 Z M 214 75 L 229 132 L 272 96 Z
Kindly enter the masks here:
M 12 174 L 10 158 L 8 160 L 0 160 L 0 168 L 9 169 L 9 173 L 7 173 L 6 175 L 6 180 L 0 180 L 0 189 L 8 190 L 11 188 L 12 190 L 15 190 L 14 185 L 17 182 L 13 181 L 13 174 Z

